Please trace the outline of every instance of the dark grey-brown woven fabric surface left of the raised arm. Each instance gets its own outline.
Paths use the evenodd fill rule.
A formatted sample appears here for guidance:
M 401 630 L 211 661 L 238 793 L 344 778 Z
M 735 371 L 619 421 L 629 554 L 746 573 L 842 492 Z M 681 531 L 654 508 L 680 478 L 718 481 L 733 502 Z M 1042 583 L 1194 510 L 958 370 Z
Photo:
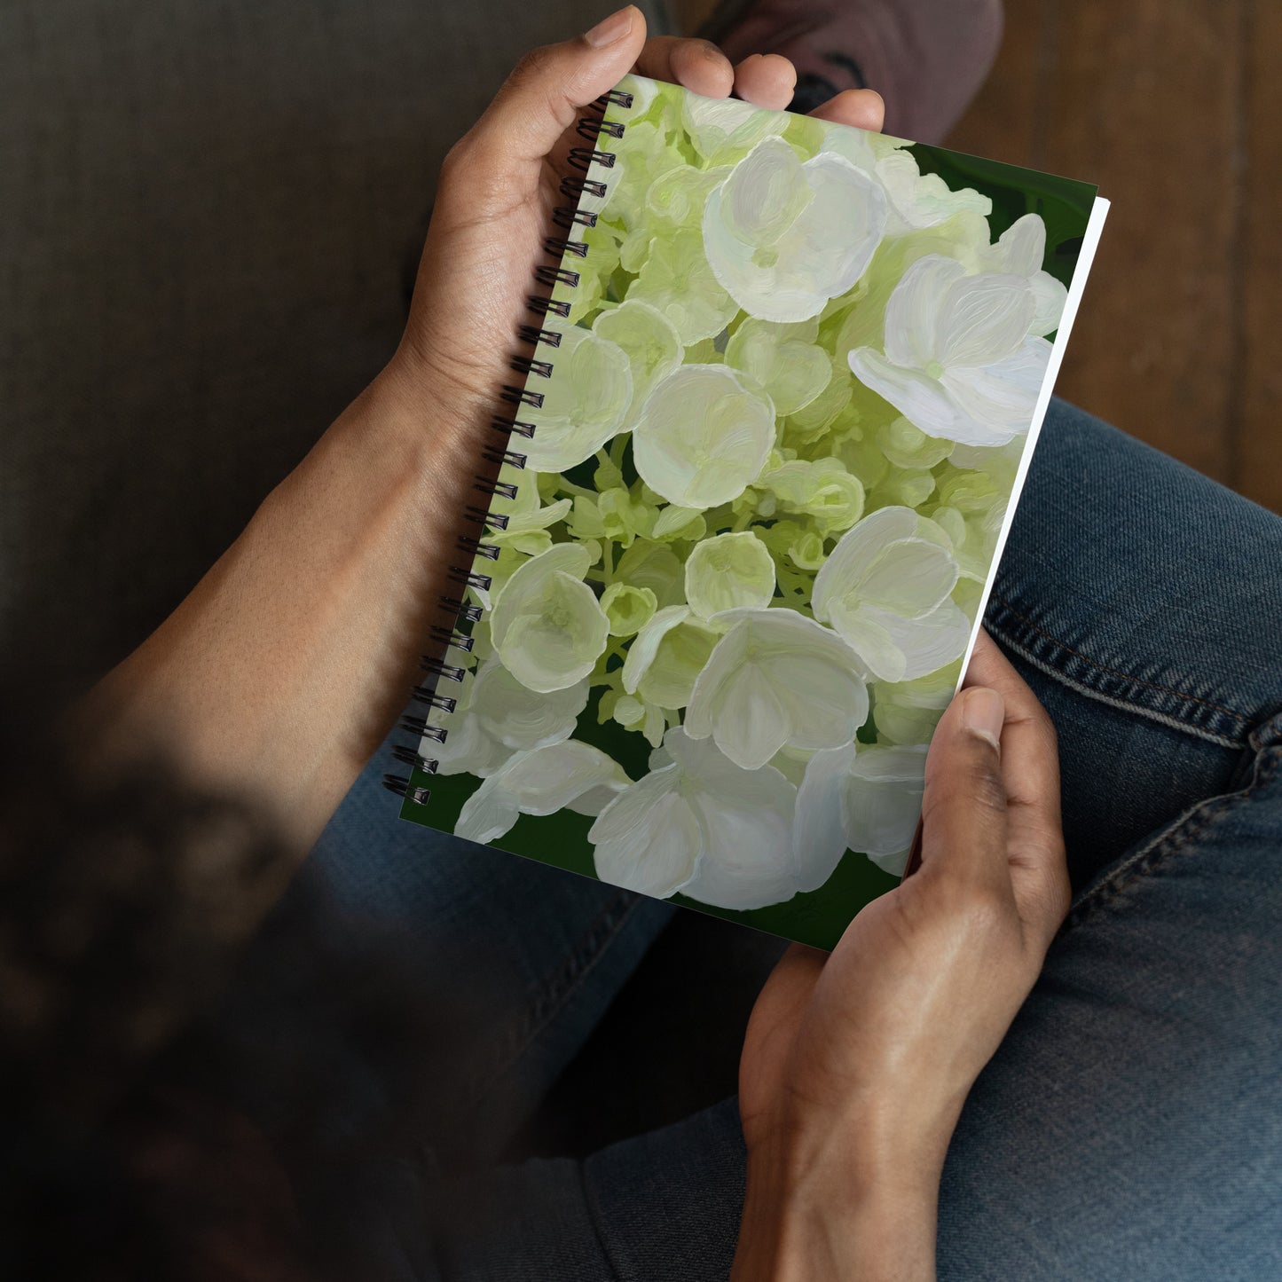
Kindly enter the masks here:
M 612 8 L 0 5 L 0 659 L 78 690 L 178 604 L 395 349 L 445 151 Z

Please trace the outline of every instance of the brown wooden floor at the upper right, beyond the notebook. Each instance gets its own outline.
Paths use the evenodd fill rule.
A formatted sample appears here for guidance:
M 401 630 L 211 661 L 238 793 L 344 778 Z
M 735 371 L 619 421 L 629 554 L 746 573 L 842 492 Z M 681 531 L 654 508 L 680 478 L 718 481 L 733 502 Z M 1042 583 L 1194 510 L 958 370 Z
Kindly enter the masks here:
M 947 144 L 1099 183 L 1058 391 L 1282 512 L 1279 68 L 1282 0 L 1006 0 Z

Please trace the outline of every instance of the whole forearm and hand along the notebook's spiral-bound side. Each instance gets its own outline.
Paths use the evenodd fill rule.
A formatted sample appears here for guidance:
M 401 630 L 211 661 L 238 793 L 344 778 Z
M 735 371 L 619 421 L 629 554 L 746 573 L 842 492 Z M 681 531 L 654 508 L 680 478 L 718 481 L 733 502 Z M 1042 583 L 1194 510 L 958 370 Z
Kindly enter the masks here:
M 181 760 L 251 799 L 301 858 L 404 710 L 458 559 L 459 501 L 495 441 L 574 122 L 632 68 L 768 108 L 792 64 L 645 38 L 628 6 L 524 58 L 445 162 L 404 337 L 151 637 L 69 714 L 77 769 Z M 879 127 L 881 99 L 829 119 Z M 210 703 L 209 691 L 218 697 Z M 244 914 L 247 932 L 256 920 Z

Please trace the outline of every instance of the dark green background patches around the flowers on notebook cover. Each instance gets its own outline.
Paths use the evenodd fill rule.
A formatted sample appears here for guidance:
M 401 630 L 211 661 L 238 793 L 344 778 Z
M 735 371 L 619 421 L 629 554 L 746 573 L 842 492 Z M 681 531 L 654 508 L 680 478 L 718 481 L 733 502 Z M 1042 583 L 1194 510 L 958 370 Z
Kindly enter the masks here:
M 992 199 L 988 215 L 992 240 L 1023 214 L 1041 214 L 1046 224 L 1044 267 L 1065 286 L 1070 285 L 1096 187 L 924 144 L 915 144 L 910 150 L 922 173 L 937 173 L 954 190 L 974 187 Z M 609 753 L 631 778 L 640 778 L 647 769 L 649 745 L 640 735 L 614 722 L 597 726 L 595 704 L 594 697 L 579 718 L 577 737 Z M 478 786 L 470 776 L 429 776 L 422 770 L 414 770 L 410 782 L 431 788 L 432 796 L 426 805 L 406 800 L 401 805 L 401 818 L 445 832 L 453 831 L 463 803 Z M 501 849 L 592 877 L 592 851 L 587 842 L 591 826 L 590 818 L 570 810 L 537 818 L 522 815 L 501 840 Z M 864 855 L 847 851 L 824 886 L 785 904 L 733 912 L 699 904 L 683 895 L 673 896 L 673 903 L 831 949 L 864 904 L 897 883 L 897 877 L 883 873 Z

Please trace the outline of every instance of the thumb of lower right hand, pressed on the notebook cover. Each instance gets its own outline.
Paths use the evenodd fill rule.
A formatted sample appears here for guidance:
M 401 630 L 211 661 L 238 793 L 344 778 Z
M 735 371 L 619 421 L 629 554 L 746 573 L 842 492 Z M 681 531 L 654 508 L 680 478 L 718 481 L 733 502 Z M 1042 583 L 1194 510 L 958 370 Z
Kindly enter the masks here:
M 931 738 L 922 797 L 922 873 L 1011 896 L 1006 788 L 1001 778 L 1005 705 L 996 690 L 964 690 Z M 1011 904 L 1013 906 L 1013 904 Z

